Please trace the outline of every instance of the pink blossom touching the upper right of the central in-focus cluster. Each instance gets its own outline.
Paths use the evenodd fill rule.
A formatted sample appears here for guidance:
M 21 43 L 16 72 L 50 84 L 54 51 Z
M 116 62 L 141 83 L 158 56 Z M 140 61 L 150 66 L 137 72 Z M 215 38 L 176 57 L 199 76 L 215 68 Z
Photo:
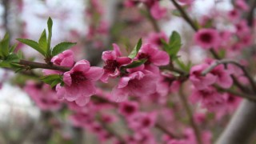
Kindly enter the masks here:
M 170 57 L 165 51 L 158 50 L 150 44 L 142 45 L 141 49 L 138 52 L 137 58 L 146 58 L 147 61 L 145 64 L 152 63 L 155 66 L 166 66 L 170 62 Z

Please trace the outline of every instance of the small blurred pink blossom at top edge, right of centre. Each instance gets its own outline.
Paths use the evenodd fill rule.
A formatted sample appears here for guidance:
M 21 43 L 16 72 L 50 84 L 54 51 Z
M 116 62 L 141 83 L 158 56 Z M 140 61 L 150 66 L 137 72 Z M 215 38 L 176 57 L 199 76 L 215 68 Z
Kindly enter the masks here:
M 167 13 L 166 8 L 160 7 L 158 2 L 155 2 L 154 5 L 150 8 L 150 14 L 154 19 L 161 19 Z

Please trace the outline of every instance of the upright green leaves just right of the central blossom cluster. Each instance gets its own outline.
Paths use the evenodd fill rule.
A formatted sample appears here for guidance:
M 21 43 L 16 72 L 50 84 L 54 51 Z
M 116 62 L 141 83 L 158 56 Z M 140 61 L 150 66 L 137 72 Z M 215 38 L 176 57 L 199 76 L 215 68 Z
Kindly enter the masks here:
M 178 51 L 181 49 L 182 46 L 182 38 L 178 34 L 178 32 L 174 31 L 169 38 L 169 42 L 165 42 L 162 40 L 163 48 L 166 52 L 170 55 L 172 60 L 178 58 L 177 54 Z

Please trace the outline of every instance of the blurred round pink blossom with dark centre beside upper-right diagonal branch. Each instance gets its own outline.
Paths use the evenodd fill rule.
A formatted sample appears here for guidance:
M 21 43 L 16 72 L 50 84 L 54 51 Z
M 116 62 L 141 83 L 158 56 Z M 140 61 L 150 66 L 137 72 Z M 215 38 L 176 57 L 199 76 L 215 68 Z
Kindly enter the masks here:
M 214 48 L 217 49 L 220 38 L 218 34 L 218 30 L 214 29 L 201 29 L 198 30 L 196 34 L 194 34 L 194 42 L 202 46 L 204 49 Z

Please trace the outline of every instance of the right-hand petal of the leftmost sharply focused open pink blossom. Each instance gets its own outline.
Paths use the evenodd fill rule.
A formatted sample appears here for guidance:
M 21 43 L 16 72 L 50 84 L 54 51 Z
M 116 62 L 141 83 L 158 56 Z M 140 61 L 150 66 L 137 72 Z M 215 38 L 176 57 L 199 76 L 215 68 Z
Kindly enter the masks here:
M 91 81 L 98 81 L 98 79 L 102 78 L 104 74 L 104 70 L 100 67 L 91 66 L 90 70 L 88 70 L 85 74 L 86 78 L 89 78 Z

